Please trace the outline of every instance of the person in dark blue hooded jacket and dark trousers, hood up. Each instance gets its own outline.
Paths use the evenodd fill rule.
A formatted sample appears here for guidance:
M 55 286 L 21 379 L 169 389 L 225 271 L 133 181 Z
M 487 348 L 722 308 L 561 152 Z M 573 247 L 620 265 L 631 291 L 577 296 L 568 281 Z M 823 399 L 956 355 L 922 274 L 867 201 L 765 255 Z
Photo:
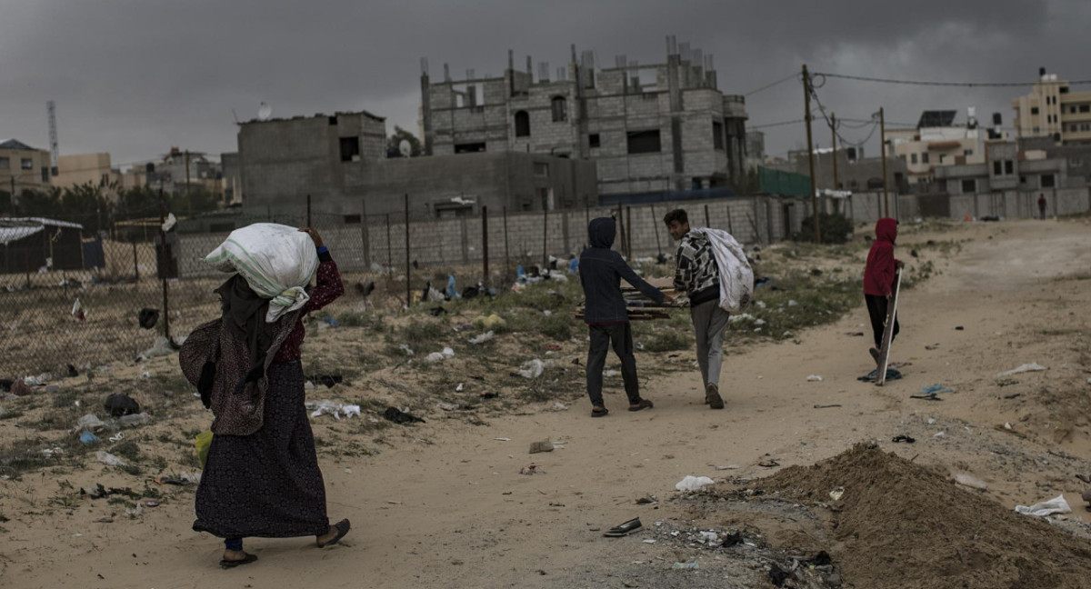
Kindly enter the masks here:
M 602 401 L 602 369 L 607 353 L 613 347 L 621 360 L 621 377 L 625 382 L 628 410 L 651 409 L 654 404 L 640 398 L 640 383 L 636 376 L 636 357 L 633 356 L 633 329 L 621 293 L 621 280 L 633 285 L 656 302 L 669 300 L 658 288 L 644 281 L 613 251 L 616 224 L 610 217 L 592 219 L 587 226 L 591 247 L 579 255 L 579 284 L 584 287 L 586 303 L 584 322 L 590 335 L 587 350 L 587 396 L 591 399 L 591 417 L 603 417 L 610 411 Z

